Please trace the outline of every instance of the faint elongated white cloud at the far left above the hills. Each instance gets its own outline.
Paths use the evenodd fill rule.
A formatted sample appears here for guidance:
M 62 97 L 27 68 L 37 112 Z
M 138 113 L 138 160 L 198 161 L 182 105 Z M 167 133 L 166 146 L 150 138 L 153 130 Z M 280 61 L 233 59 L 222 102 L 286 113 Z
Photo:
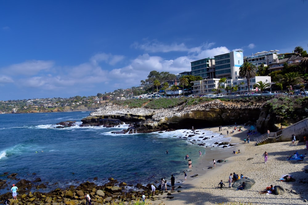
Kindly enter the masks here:
M 49 70 L 54 65 L 53 61 L 26 61 L 2 68 L 1 71 L 10 75 L 34 75 L 42 70 Z

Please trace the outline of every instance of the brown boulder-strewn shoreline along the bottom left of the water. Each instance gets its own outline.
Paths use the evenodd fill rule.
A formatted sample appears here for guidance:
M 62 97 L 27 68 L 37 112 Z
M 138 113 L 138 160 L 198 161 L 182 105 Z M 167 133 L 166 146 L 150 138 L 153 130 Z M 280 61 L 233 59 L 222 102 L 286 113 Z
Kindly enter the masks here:
M 35 174 L 35 173 L 33 173 Z M 4 173 L 3 175 L 8 175 L 8 173 Z M 2 175 L 2 176 L 3 176 Z M 92 204 L 113 204 L 113 202 L 118 201 L 138 201 L 142 198 L 142 193 L 146 195 L 148 200 L 156 200 L 161 199 L 160 196 L 164 192 L 167 191 L 155 191 L 155 195 L 152 194 L 151 184 L 147 186 L 143 186 L 138 183 L 134 185 L 128 185 L 125 182 L 118 182 L 116 179 L 109 178 L 109 182 L 99 186 L 93 182 L 84 182 L 80 183 L 79 186 L 75 187 L 71 185 L 66 189 L 56 188 L 55 190 L 49 191 L 47 193 L 40 192 L 40 189 L 46 188 L 48 186 L 48 182 L 41 183 L 40 178 L 36 178 L 34 181 L 28 181 L 26 179 L 17 179 L 17 173 L 12 173 L 7 176 L 8 179 L 1 180 L 0 179 L 0 189 L 7 189 L 8 192 L 2 194 L 0 196 L 1 201 L 3 203 L 6 199 L 10 199 L 10 204 L 26 204 L 26 205 L 34 205 L 34 204 L 42 204 L 42 205 L 75 205 L 75 204 L 86 204 L 84 199 L 84 194 L 87 193 L 90 195 Z M 10 181 L 9 181 L 10 180 Z M 15 185 L 18 187 L 17 191 L 17 200 L 12 199 L 12 194 L 10 192 L 11 180 L 19 180 Z M 94 180 L 97 180 L 95 177 Z M 159 182 L 156 182 L 159 183 Z M 35 188 L 37 191 L 31 192 Z M 180 187 L 178 187 L 180 188 Z M 173 191 L 174 192 L 174 191 Z M 171 192 L 168 192 L 169 199 L 173 198 Z

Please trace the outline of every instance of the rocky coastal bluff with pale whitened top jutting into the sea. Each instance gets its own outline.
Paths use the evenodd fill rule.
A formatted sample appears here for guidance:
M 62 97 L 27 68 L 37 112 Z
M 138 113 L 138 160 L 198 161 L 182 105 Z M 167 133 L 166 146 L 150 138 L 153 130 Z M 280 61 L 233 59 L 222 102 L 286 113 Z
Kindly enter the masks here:
M 257 124 L 257 129 L 263 131 L 273 121 L 269 119 L 269 108 L 264 106 L 265 102 L 235 103 L 215 99 L 194 105 L 181 104 L 160 109 L 144 106 L 130 108 L 128 105 L 108 103 L 83 118 L 81 126 L 116 127 L 125 123 L 129 124 L 129 128 L 124 130 L 124 133 L 132 133 L 133 130 L 134 133 L 140 133 L 248 123 Z

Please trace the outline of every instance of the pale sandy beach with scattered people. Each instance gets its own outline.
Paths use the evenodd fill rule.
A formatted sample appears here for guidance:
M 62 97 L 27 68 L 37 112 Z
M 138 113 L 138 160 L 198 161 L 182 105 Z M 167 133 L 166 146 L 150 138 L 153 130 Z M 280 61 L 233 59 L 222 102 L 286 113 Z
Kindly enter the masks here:
M 223 127 L 223 132 L 228 127 Z M 216 167 L 208 169 L 211 165 L 208 160 L 200 160 L 200 164 L 193 164 L 192 173 L 188 173 L 187 181 L 176 183 L 176 189 L 171 192 L 168 187 L 168 193 L 172 199 L 168 199 L 167 193 L 156 195 L 156 200 L 149 201 L 153 205 L 207 205 L 207 204 L 231 204 L 230 202 L 242 202 L 244 204 L 308 204 L 308 169 L 307 159 L 303 161 L 287 160 L 295 151 L 299 154 L 308 153 L 303 143 L 296 142 L 278 142 L 255 146 L 253 136 L 250 136 L 250 143 L 244 143 L 247 129 L 242 132 L 229 134 L 232 136 L 231 143 L 238 143 L 237 149 L 241 150 L 239 154 L 230 154 L 225 159 L 227 162 L 216 163 Z M 207 128 L 213 132 L 218 132 L 218 128 Z M 230 129 L 229 129 L 230 133 Z M 256 137 L 256 136 L 255 136 Z M 268 162 L 265 164 L 264 152 L 268 152 Z M 253 158 L 247 160 L 248 158 Z M 217 154 L 216 159 L 220 159 Z M 227 188 L 230 173 L 243 174 L 245 177 L 254 179 L 256 183 L 249 190 L 235 191 L 235 188 Z M 196 178 L 191 178 L 192 174 L 198 174 Z M 293 175 L 295 182 L 280 181 L 282 175 Z M 184 175 L 183 175 L 184 178 Z M 168 180 L 168 179 L 167 179 Z M 220 189 L 218 183 L 223 180 L 226 188 Z M 176 182 L 179 181 L 176 179 Z M 307 182 L 307 183 L 306 183 Z M 233 184 L 233 183 L 232 183 Z M 266 187 L 273 184 L 286 189 L 283 195 L 260 194 Z M 181 188 L 178 188 L 181 186 Z M 306 202 L 305 202 L 305 201 Z

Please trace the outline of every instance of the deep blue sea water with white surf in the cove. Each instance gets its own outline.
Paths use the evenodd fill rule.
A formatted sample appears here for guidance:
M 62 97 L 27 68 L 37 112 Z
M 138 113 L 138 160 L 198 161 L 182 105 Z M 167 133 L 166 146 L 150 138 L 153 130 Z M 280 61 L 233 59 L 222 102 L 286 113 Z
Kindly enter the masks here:
M 230 138 L 206 130 L 185 138 L 192 134 L 190 130 L 112 134 L 111 131 L 126 129 L 127 125 L 118 128 L 56 128 L 56 123 L 66 120 L 76 120 L 81 124 L 80 120 L 89 114 L 0 115 L 0 174 L 18 173 L 18 179 L 30 181 L 40 177 L 41 183 L 49 182 L 46 190 L 40 191 L 77 185 L 87 180 L 101 185 L 109 177 L 128 184 L 147 184 L 161 177 L 170 179 L 171 174 L 182 174 L 188 169 L 184 160 L 186 154 L 197 162 L 201 160 L 199 150 L 205 157 L 208 152 L 222 150 L 213 148 L 214 142 L 230 141 Z M 207 148 L 197 145 L 205 136 L 209 137 L 204 141 Z M 169 154 L 165 154 L 166 150 Z M 94 177 L 98 179 L 94 180 Z M 1 176 L 0 179 L 7 178 Z M 6 190 L 0 190 L 0 194 L 4 192 Z

